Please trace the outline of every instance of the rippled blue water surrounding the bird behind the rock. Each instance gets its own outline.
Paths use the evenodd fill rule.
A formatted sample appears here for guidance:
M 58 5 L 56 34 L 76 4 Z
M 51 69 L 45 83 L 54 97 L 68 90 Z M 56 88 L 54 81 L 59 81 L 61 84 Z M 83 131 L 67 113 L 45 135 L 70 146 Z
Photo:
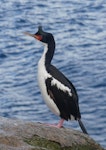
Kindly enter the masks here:
M 0 1 L 0 116 L 55 123 L 37 84 L 43 46 L 23 32 L 53 33 L 53 64 L 76 86 L 88 133 L 106 147 L 106 1 Z M 77 122 L 65 126 L 80 130 Z

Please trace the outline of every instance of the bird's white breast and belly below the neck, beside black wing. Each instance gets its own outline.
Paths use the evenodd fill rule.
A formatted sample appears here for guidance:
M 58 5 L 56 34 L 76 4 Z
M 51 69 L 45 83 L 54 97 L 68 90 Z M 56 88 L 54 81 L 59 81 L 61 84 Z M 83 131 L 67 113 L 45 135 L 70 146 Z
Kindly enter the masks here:
M 47 89 L 46 89 L 46 84 L 45 84 L 45 80 L 51 77 L 50 74 L 47 73 L 44 64 L 42 63 L 42 60 L 39 61 L 38 64 L 38 84 L 40 87 L 40 91 L 42 94 L 42 97 L 45 101 L 45 103 L 47 104 L 47 106 L 50 108 L 50 110 L 55 114 L 55 115 L 60 115 L 60 111 L 58 109 L 58 107 L 56 106 L 56 104 L 54 103 L 54 101 L 50 98 L 50 96 L 47 93 Z

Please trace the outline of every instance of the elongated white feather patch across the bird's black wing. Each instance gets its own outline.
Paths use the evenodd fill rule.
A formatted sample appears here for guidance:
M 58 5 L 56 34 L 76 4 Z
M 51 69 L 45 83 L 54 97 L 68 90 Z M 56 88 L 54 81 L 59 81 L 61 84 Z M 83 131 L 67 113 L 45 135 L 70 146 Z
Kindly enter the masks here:
M 51 76 L 52 77 L 52 76 Z M 58 89 L 64 91 L 64 92 L 68 92 L 68 94 L 70 96 L 72 96 L 71 93 L 71 89 L 69 89 L 67 86 L 65 86 L 64 84 L 62 84 L 61 82 L 59 82 L 58 80 L 56 80 L 55 78 L 53 78 L 53 80 L 51 81 L 51 85 L 56 85 Z

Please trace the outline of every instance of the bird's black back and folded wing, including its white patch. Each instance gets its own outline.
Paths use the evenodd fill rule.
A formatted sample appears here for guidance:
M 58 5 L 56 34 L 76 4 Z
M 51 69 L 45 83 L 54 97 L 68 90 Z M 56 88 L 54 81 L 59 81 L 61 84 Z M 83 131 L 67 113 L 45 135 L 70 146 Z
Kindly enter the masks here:
M 72 83 L 54 66 L 50 66 L 46 79 L 47 92 L 60 110 L 60 116 L 66 120 L 80 118 L 78 95 Z

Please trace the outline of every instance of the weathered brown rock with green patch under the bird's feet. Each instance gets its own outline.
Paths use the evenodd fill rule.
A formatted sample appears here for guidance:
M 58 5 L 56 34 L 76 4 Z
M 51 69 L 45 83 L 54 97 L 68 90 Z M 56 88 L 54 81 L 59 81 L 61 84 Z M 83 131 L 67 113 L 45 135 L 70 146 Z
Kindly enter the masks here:
M 0 150 L 104 149 L 79 131 L 0 117 Z

